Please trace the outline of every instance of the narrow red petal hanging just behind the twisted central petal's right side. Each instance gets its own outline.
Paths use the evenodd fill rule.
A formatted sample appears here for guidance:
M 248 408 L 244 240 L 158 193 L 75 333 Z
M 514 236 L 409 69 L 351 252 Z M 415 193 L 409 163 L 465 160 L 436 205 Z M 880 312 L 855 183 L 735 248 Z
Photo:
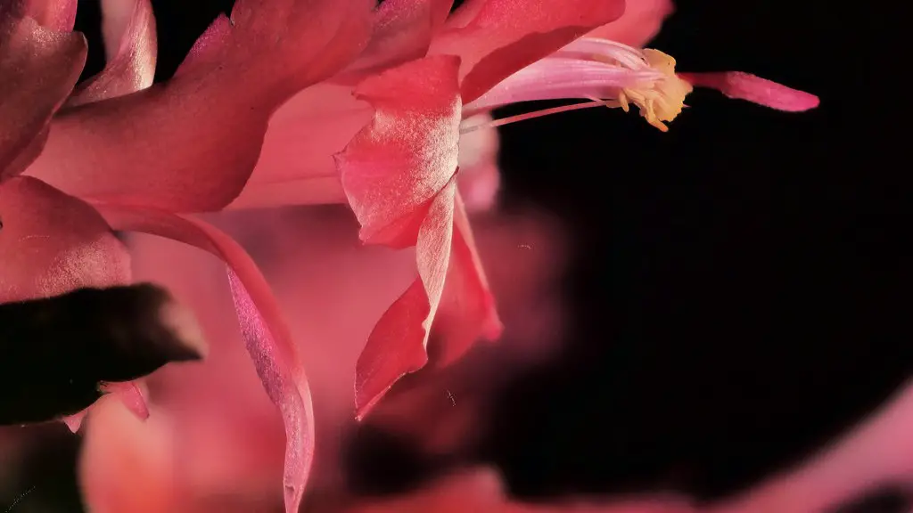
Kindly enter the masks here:
M 466 208 L 457 194 L 453 250 L 435 324 L 435 333 L 441 337 L 434 346 L 436 363 L 448 365 L 463 356 L 476 340 L 496 340 L 502 330 Z

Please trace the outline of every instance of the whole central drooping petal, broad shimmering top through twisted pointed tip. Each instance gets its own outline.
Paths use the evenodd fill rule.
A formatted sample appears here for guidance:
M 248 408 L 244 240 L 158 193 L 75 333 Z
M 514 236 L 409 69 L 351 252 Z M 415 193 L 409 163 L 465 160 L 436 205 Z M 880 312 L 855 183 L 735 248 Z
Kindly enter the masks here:
M 359 359 L 359 417 L 404 373 L 425 365 L 453 230 L 458 66 L 452 57 L 424 58 L 367 79 L 355 91 L 375 115 L 337 156 L 342 185 L 362 225 L 362 240 L 415 245 L 419 273 L 378 321 Z

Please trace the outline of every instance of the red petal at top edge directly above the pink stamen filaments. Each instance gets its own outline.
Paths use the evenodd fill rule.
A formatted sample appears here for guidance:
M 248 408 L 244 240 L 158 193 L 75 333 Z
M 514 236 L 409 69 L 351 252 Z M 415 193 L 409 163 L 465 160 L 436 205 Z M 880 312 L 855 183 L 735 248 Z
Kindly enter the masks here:
M 430 50 L 463 59 L 464 103 L 624 13 L 624 0 L 482 1 L 467 2 Z

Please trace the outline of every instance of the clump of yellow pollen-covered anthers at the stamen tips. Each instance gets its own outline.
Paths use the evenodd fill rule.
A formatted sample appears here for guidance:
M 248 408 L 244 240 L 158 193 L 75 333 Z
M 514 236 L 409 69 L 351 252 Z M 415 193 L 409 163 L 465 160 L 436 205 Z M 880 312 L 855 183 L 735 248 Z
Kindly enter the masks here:
M 622 89 L 618 101 L 625 112 L 628 111 L 628 102 L 634 103 L 646 122 L 661 131 L 668 131 L 663 121 L 674 120 L 682 111 L 685 97 L 691 92 L 691 84 L 677 77 L 675 58 L 652 48 L 644 49 L 644 57 L 650 68 L 664 76 L 645 81 L 635 88 Z

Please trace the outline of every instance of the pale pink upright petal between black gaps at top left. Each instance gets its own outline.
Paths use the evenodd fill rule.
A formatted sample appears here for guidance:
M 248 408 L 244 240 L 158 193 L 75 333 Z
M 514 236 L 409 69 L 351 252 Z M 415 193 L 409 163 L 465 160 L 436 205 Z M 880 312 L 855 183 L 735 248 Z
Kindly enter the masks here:
M 155 75 L 155 16 L 149 0 L 104 0 L 105 51 L 108 64 L 80 85 L 68 107 L 114 98 L 152 86 Z

